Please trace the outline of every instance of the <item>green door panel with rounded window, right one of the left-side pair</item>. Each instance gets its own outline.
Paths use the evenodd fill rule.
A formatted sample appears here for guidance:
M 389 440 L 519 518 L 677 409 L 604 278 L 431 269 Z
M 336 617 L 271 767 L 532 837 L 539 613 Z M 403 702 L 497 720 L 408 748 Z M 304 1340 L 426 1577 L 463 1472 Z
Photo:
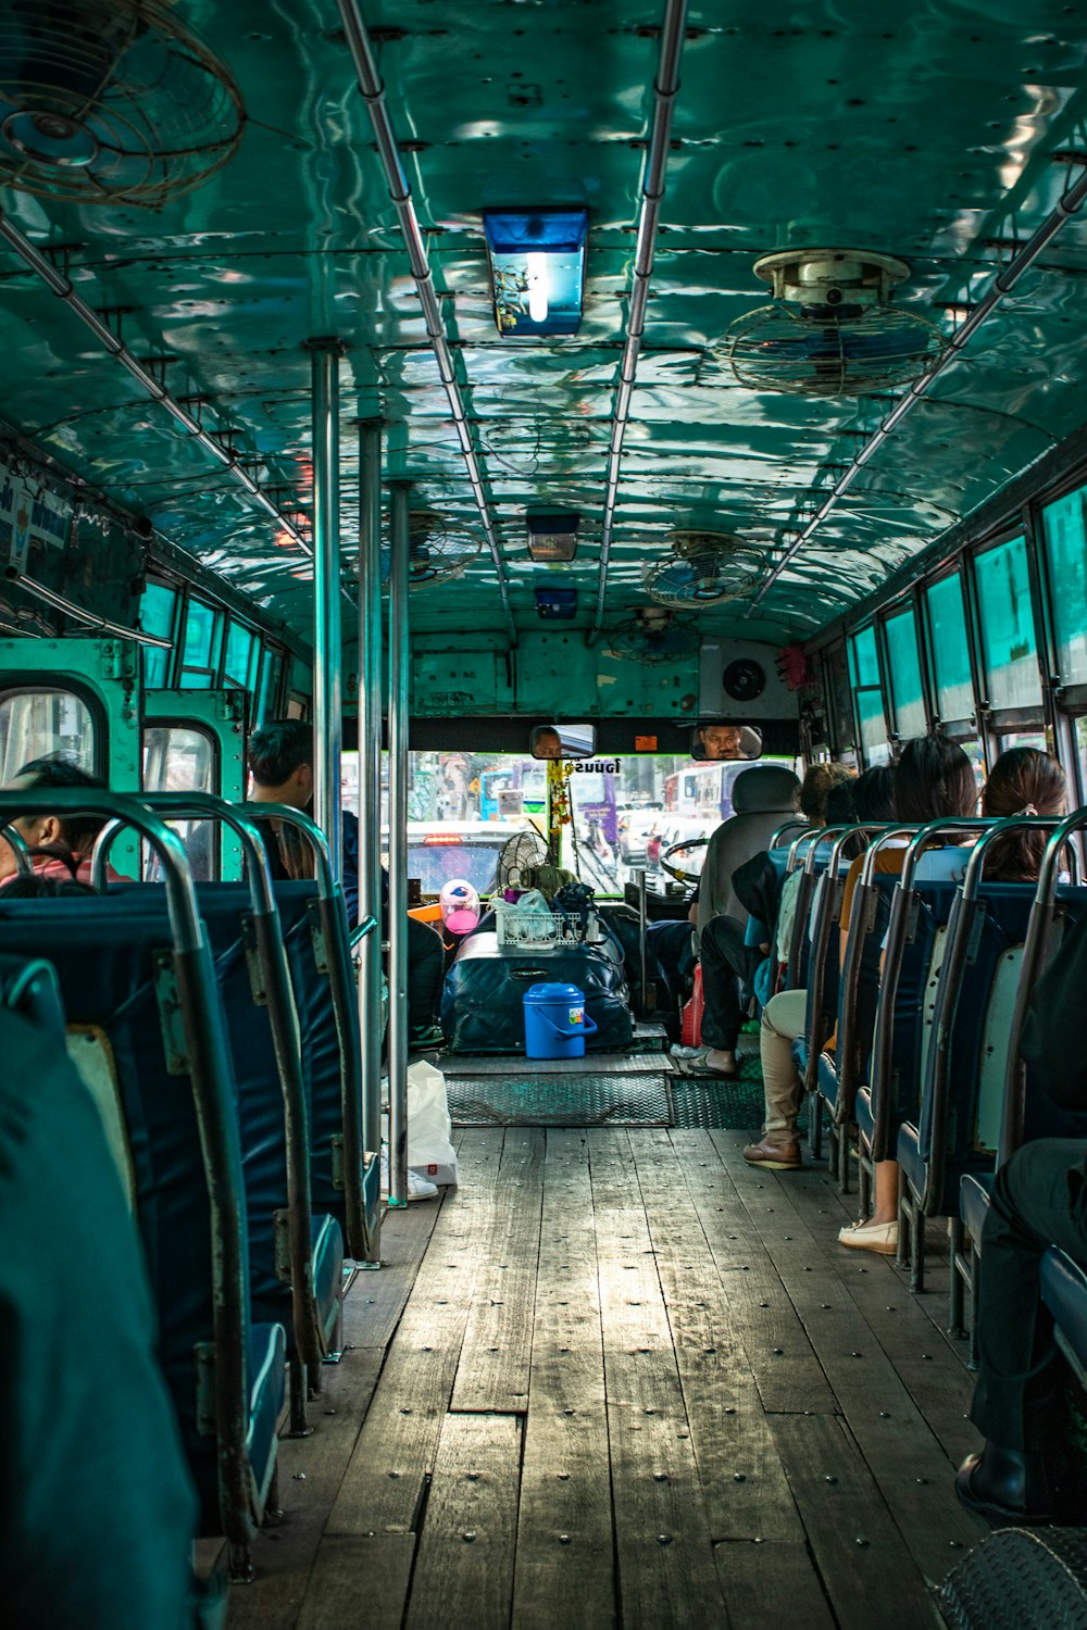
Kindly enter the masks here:
M 246 795 L 244 691 L 145 691 L 143 789 L 215 792 L 228 804 L 241 804 Z M 241 877 L 241 848 L 227 826 L 217 833 L 210 822 L 171 825 L 186 846 L 197 882 Z M 145 875 L 153 872 L 155 862 L 148 857 Z

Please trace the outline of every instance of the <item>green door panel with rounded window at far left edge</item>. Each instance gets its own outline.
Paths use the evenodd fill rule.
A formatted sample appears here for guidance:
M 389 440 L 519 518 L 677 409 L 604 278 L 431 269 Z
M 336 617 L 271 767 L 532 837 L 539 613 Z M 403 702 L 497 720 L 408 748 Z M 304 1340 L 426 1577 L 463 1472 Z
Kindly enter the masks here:
M 59 755 L 114 792 L 139 792 L 139 662 L 130 639 L 0 641 L 0 786 Z M 135 833 L 121 833 L 109 857 L 135 877 Z

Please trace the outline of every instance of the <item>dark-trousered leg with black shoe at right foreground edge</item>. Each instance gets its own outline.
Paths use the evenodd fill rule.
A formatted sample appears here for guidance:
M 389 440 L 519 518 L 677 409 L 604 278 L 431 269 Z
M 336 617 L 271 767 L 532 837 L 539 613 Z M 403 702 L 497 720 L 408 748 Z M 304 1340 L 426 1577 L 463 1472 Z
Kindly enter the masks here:
M 979 1372 L 970 1418 L 986 1443 L 960 1467 L 963 1504 L 1006 1521 L 1050 1513 L 1045 1460 L 1059 1386 L 1041 1258 L 1058 1245 L 1087 1263 L 1087 1143 L 1023 1144 L 996 1177 L 981 1236 Z

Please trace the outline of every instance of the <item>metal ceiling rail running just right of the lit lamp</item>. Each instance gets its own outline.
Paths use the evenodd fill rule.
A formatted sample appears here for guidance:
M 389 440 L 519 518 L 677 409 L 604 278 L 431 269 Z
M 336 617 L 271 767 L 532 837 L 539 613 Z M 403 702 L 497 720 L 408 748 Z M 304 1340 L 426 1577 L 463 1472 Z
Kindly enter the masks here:
M 686 13 L 688 0 L 667 0 L 665 20 L 660 28 L 660 60 L 657 64 L 657 78 L 654 80 L 654 122 L 645 148 L 645 168 L 642 170 L 642 204 L 639 209 L 637 238 L 634 244 L 634 274 L 631 279 L 631 305 L 626 319 L 626 344 L 623 346 L 623 360 L 619 362 L 619 388 L 616 391 L 614 412 L 611 416 L 608 476 L 605 482 L 605 505 L 600 523 L 596 616 L 588 632 L 588 644 L 600 636 L 605 615 L 605 588 L 608 582 L 608 557 L 611 554 L 611 530 L 614 525 L 616 499 L 619 494 L 623 440 L 631 417 L 637 359 L 642 349 L 642 337 L 645 334 L 649 279 L 654 271 L 660 205 L 665 197 L 665 170 L 668 168 L 668 148 L 671 145 L 671 116 L 675 111 L 676 91 L 680 90 L 680 55 L 683 52 L 683 39 L 686 34 Z

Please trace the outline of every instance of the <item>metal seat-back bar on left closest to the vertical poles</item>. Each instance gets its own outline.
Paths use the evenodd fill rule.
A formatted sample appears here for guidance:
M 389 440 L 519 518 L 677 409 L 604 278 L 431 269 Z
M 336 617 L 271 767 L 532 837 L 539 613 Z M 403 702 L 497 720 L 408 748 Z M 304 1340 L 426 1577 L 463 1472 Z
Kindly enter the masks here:
M 316 916 L 324 941 L 324 971 L 332 996 L 332 1014 L 339 1037 L 341 1061 L 341 1117 L 344 1123 L 344 1219 L 347 1250 L 359 1262 L 373 1262 L 373 1237 L 378 1222 L 376 1208 L 372 1219 L 367 1213 L 363 1174 L 367 1151 L 362 1141 L 363 1113 L 373 1107 L 362 1102 L 363 1077 L 359 1035 L 359 1004 L 350 970 L 350 932 L 342 908 L 342 895 L 332 879 L 324 833 L 303 810 L 290 804 L 241 804 L 236 805 L 253 822 L 280 822 L 293 826 L 310 848 L 318 885 Z M 370 932 L 370 929 L 367 929 Z M 380 1099 L 380 1081 L 375 1084 Z M 380 1117 L 380 1102 L 376 1115 Z M 376 1159 L 376 1152 L 373 1159 Z

